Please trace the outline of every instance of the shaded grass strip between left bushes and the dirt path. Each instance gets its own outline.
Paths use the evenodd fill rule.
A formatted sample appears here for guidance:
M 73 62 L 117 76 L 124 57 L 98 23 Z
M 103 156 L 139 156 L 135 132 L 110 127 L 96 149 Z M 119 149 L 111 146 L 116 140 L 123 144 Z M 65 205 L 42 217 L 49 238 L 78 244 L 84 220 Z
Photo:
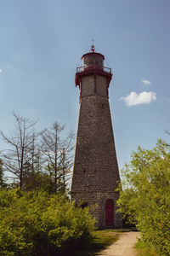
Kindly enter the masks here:
M 111 245 L 118 240 L 119 234 L 122 230 L 96 230 L 94 231 L 94 238 L 90 245 L 85 245 L 77 250 L 77 252 L 70 252 L 69 255 L 74 256 L 93 256 L 100 250 Z

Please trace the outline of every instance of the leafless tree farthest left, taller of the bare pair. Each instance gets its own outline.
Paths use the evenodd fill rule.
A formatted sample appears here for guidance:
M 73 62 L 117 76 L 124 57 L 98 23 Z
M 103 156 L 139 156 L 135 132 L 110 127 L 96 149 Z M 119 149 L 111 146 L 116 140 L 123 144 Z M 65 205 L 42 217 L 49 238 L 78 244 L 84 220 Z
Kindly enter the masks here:
M 38 147 L 37 138 L 42 136 L 43 131 L 34 131 L 37 121 L 22 118 L 13 113 L 15 129 L 12 136 L 4 135 L 0 131 L 3 141 L 8 145 L 6 153 L 3 150 L 3 166 L 20 182 L 20 188 L 24 186 L 24 177 L 27 172 L 34 171 Z

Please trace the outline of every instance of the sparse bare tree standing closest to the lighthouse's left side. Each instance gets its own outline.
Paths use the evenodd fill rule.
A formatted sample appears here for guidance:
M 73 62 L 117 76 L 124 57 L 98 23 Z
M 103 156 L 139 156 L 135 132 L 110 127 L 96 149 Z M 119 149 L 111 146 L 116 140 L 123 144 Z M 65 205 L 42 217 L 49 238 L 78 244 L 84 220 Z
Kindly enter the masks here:
M 71 173 L 72 166 L 71 151 L 74 139 L 73 133 L 62 139 L 61 132 L 64 131 L 65 125 L 59 125 L 55 122 L 51 129 L 45 131 L 42 135 L 42 154 L 47 164 L 54 183 L 54 193 L 66 189 L 66 175 Z

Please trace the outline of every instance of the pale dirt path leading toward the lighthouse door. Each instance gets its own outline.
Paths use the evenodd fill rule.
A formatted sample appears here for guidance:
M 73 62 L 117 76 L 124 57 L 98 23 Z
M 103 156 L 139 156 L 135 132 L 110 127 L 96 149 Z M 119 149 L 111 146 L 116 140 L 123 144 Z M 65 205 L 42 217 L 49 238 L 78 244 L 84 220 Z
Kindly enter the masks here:
M 133 248 L 139 237 L 139 232 L 123 233 L 119 240 L 110 247 L 100 252 L 99 256 L 136 256 L 137 253 Z

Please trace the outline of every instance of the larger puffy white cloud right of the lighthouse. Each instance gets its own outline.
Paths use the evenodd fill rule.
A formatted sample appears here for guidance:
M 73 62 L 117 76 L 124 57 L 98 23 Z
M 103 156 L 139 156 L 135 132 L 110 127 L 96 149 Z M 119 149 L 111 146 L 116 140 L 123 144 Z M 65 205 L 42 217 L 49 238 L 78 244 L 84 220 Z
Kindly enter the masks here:
M 120 101 L 125 102 L 127 107 L 132 107 L 141 104 L 150 104 L 150 102 L 156 101 L 156 92 L 143 91 L 138 94 L 136 91 L 132 91 L 129 95 L 121 97 Z

